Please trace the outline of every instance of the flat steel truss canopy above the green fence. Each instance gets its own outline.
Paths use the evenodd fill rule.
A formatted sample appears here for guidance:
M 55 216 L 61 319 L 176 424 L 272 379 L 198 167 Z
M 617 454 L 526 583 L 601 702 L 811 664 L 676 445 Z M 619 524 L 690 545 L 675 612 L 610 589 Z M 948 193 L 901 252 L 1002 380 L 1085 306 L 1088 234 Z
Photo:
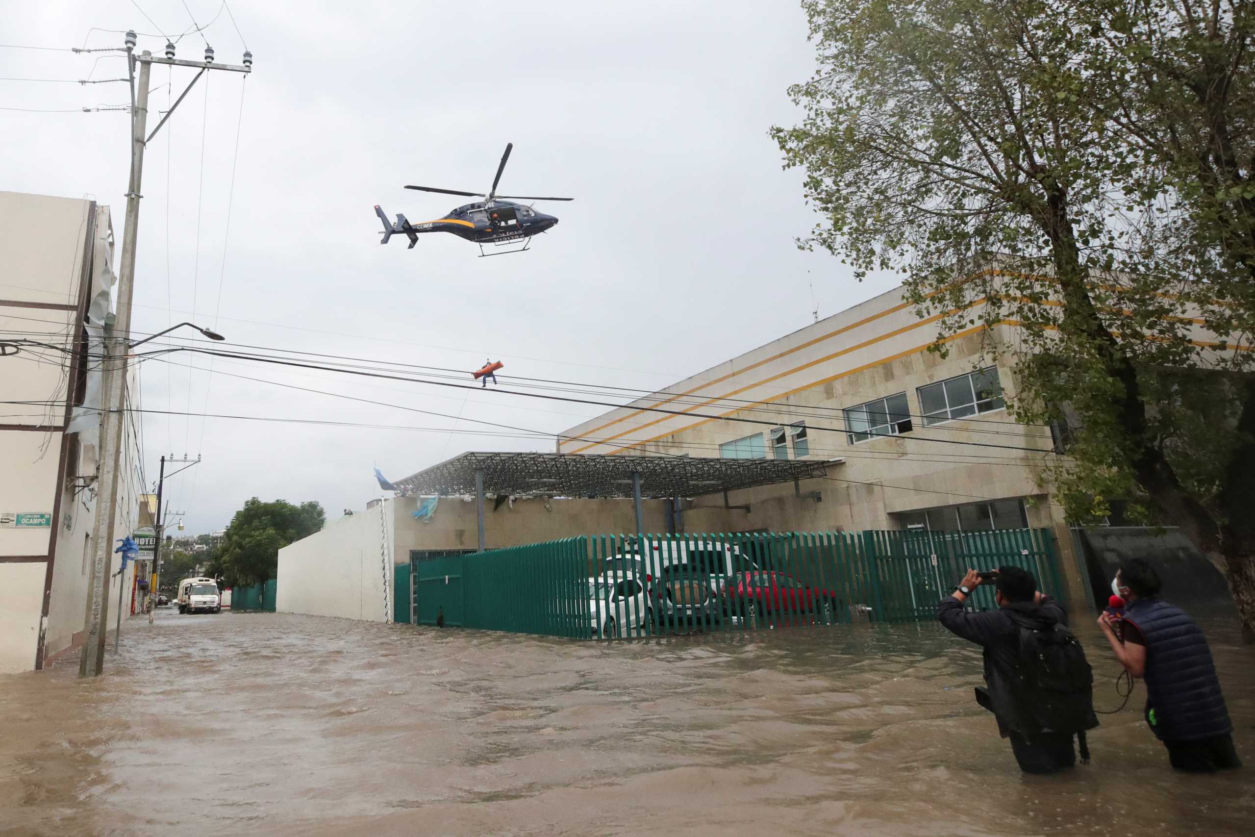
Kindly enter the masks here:
M 404 494 L 476 494 L 476 472 L 483 472 L 486 494 L 550 497 L 633 497 L 639 474 L 646 499 L 700 497 L 827 476 L 841 459 L 710 459 L 579 453 L 463 453 L 404 479 L 393 481 Z

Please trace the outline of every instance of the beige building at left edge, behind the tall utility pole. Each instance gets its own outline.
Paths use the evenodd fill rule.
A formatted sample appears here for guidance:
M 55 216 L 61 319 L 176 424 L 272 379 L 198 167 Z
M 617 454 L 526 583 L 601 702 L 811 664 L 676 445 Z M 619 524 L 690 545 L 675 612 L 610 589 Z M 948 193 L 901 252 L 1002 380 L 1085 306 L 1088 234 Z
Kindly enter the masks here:
M 108 207 L 0 192 L 0 671 L 40 669 L 84 639 L 102 546 L 92 541 L 100 373 L 89 355 L 110 311 L 112 261 Z M 128 415 L 117 537 L 139 525 L 143 493 L 139 418 Z M 109 578 L 110 622 L 119 586 L 127 607 L 133 563 Z

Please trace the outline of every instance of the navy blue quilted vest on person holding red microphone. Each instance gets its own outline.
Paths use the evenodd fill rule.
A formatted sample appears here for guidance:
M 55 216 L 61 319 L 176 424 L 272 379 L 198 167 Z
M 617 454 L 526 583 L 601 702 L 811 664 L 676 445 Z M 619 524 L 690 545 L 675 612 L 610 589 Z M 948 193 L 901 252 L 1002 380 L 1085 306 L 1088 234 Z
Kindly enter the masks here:
M 1156 737 L 1188 742 L 1232 732 L 1211 649 L 1194 620 L 1158 599 L 1135 601 L 1124 619 L 1146 639 L 1147 709 L 1155 710 Z

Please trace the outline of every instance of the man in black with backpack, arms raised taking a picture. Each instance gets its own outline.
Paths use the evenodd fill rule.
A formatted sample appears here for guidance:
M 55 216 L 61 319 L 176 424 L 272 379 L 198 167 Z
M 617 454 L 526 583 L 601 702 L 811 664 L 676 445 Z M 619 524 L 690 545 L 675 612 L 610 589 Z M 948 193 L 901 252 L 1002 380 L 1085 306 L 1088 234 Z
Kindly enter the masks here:
M 993 581 L 998 610 L 969 612 L 964 602 Z M 998 732 L 1025 773 L 1055 773 L 1089 752 L 1084 733 L 1098 725 L 1093 712 L 1093 674 L 1081 644 L 1067 627 L 1054 599 L 1037 590 L 1020 567 L 996 572 L 968 570 L 959 589 L 937 605 L 937 620 L 951 634 L 984 649 L 986 690 L 976 700 L 994 713 Z

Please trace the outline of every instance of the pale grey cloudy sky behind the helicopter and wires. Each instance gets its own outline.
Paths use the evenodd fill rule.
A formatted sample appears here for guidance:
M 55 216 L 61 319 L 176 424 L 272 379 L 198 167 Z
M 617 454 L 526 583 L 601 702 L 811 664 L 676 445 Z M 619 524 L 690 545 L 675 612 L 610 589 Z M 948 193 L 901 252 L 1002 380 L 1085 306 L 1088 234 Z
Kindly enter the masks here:
M 139 6 L 152 21 L 129 0 L 0 0 L 0 41 L 109 46 L 122 35 L 89 30 L 191 25 L 182 0 Z M 187 8 L 205 25 L 221 3 Z M 837 260 L 793 243 L 814 217 L 801 174 L 781 171 L 767 136 L 797 118 L 786 88 L 812 68 L 793 3 L 236 0 L 232 11 L 252 77 L 202 79 L 148 148 L 137 331 L 190 319 L 233 344 L 466 370 L 491 356 L 503 374 L 654 389 L 809 324 L 809 282 L 821 316 L 894 284 L 858 285 Z M 205 35 L 217 60 L 240 60 L 227 14 Z M 141 38 L 154 53 L 163 44 Z M 203 46 L 188 34 L 179 58 L 200 59 Z M 118 58 L 0 48 L 0 77 L 124 70 Z M 162 87 L 171 73 L 154 69 L 154 119 L 193 73 L 176 70 Z M 124 84 L 0 82 L 6 108 L 127 99 Z M 113 207 L 120 240 L 125 114 L 0 110 L 0 188 L 89 195 Z M 463 198 L 402 186 L 486 191 L 507 142 L 502 192 L 576 198 L 538 207 L 561 223 L 532 252 L 477 259 L 453 236 L 424 236 L 410 251 L 404 240 L 379 246 L 375 203 L 412 221 L 439 217 Z M 143 407 L 197 414 L 143 419 L 149 476 L 162 453 L 203 454 L 167 484 L 190 532 L 225 526 L 251 496 L 316 499 L 329 518 L 360 509 L 379 494 L 375 464 L 399 478 L 466 449 L 553 447 L 451 434 L 453 418 L 226 373 L 547 433 L 604 412 L 235 360 L 211 371 L 188 354 L 148 361 Z M 205 412 L 443 429 L 202 420 Z

